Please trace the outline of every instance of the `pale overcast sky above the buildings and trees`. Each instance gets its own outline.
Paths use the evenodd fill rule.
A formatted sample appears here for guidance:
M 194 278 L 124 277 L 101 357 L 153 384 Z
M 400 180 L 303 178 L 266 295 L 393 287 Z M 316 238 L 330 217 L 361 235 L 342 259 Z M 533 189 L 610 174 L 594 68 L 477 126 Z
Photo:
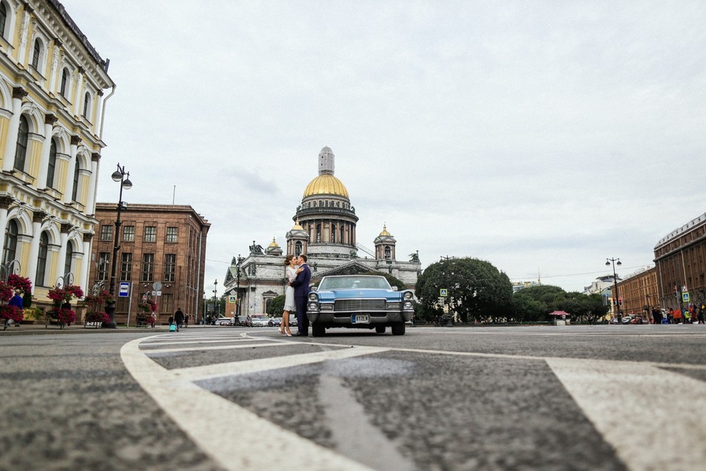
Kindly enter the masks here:
M 64 0 L 117 84 L 98 201 L 211 222 L 207 295 L 317 156 L 373 246 L 582 290 L 706 212 L 703 1 Z

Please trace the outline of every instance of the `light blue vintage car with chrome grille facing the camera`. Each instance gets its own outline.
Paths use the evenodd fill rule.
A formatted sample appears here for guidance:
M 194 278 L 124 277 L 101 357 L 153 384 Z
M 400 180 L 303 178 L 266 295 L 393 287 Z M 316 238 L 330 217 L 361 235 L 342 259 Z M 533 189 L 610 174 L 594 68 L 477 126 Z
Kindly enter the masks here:
M 385 277 L 376 275 L 325 276 L 309 293 L 306 315 L 314 337 L 327 328 L 374 328 L 405 335 L 405 322 L 414 314 L 412 290 L 397 291 Z

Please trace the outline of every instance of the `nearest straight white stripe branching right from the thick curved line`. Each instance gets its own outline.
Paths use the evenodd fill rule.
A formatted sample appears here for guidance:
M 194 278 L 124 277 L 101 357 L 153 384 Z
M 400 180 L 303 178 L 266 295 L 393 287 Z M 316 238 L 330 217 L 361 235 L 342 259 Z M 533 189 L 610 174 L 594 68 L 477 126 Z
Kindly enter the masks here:
M 337 360 L 373 353 L 388 352 L 389 348 L 382 347 L 348 347 L 327 352 L 311 352 L 287 355 L 278 358 L 257 358 L 243 362 L 217 363 L 204 366 L 191 366 L 189 368 L 173 369 L 172 373 L 189 381 L 218 378 L 220 376 L 234 376 L 236 374 L 256 373 L 280 368 L 291 368 L 304 364 L 321 363 L 327 360 Z

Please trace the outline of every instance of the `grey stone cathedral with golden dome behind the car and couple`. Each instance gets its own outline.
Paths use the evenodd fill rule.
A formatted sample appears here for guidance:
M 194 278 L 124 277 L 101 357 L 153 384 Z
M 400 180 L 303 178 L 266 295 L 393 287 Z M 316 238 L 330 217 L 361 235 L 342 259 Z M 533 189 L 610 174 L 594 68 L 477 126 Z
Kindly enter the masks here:
M 397 260 L 397 240 L 384 225 L 373 240 L 374 252 L 358 244 L 355 234 L 358 217 L 348 190 L 334 175 L 334 167 L 335 155 L 331 149 L 321 149 L 318 176 L 306 185 L 292 217 L 294 226 L 286 234 L 286 253 L 273 238 L 266 249 L 253 241 L 248 256 L 233 258 L 224 282 L 226 316 L 238 315 L 237 299 L 241 302 L 239 315 L 253 316 L 265 313 L 272 299 L 285 294 L 286 254 L 306 254 L 312 282 L 326 275 L 378 271 L 390 273 L 414 289 L 421 273 L 419 255 L 409 255 L 409 261 Z

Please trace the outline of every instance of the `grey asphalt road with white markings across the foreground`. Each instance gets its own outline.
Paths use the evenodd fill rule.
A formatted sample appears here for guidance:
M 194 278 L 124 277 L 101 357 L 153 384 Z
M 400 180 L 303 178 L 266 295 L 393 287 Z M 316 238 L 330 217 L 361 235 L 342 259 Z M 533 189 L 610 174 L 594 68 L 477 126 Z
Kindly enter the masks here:
M 0 335 L 0 471 L 706 463 L 706 326 L 329 332 Z

